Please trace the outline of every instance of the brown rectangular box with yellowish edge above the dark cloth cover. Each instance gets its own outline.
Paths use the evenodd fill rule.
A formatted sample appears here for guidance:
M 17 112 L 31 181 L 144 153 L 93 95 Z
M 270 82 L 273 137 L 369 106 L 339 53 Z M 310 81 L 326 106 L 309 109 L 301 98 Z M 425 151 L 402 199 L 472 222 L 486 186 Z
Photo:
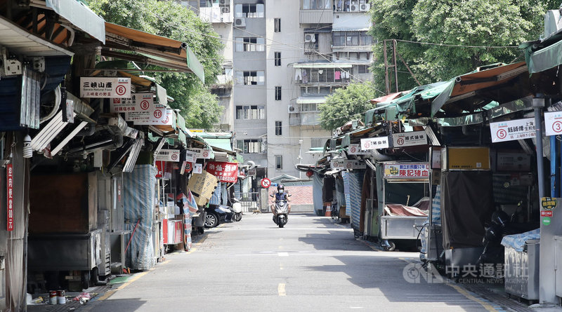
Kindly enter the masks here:
M 490 148 L 445 147 L 441 151 L 441 170 L 490 170 Z

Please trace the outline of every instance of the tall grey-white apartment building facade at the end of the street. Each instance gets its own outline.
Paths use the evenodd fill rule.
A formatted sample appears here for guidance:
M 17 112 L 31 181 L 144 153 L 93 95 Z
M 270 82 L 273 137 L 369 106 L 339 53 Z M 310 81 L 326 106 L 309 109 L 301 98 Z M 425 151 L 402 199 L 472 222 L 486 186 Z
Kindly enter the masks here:
M 368 0 L 180 1 L 221 36 L 223 75 L 213 92 L 225 111 L 219 127 L 233 131 L 257 178 L 299 177 L 331 136 L 318 104 L 337 88 L 372 79 Z

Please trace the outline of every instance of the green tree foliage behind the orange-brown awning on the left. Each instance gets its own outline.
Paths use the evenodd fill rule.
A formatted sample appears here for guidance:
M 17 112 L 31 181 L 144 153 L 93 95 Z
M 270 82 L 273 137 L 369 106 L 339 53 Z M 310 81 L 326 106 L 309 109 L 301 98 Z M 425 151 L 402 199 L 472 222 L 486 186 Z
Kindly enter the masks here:
M 107 22 L 188 43 L 204 67 L 206 83 L 214 83 L 221 74 L 223 44 L 211 25 L 202 22 L 188 8 L 173 1 L 157 0 L 90 0 L 89 5 Z M 218 98 L 195 74 L 155 73 L 153 76 L 174 97 L 170 106 L 181 109 L 189 127 L 209 129 L 219 121 L 222 107 Z

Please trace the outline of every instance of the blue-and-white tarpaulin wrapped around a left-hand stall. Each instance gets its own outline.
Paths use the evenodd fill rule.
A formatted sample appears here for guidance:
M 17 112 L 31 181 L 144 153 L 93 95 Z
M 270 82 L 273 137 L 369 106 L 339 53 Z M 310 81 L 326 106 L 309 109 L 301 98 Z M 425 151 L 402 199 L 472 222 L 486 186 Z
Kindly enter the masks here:
M 127 229 L 133 231 L 138 222 L 126 255 L 131 269 L 148 270 L 156 264 L 152 243 L 156 172 L 152 165 L 136 165 L 133 172 L 123 175 L 124 217 Z

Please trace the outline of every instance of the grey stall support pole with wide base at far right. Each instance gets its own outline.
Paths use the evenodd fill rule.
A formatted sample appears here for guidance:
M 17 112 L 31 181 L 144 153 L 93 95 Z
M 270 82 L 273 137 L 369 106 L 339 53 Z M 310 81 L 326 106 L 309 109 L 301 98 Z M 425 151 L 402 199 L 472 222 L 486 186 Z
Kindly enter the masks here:
M 540 95 L 539 95 L 540 96 Z M 539 201 L 544 197 L 544 168 L 542 157 L 542 108 L 544 98 L 533 97 L 532 107 L 535 110 L 535 139 L 537 147 L 537 179 L 539 182 Z M 541 204 L 539 203 L 539 207 Z M 539 303 L 557 304 L 556 279 L 554 272 L 554 233 L 555 224 L 540 224 L 540 266 L 539 266 Z

